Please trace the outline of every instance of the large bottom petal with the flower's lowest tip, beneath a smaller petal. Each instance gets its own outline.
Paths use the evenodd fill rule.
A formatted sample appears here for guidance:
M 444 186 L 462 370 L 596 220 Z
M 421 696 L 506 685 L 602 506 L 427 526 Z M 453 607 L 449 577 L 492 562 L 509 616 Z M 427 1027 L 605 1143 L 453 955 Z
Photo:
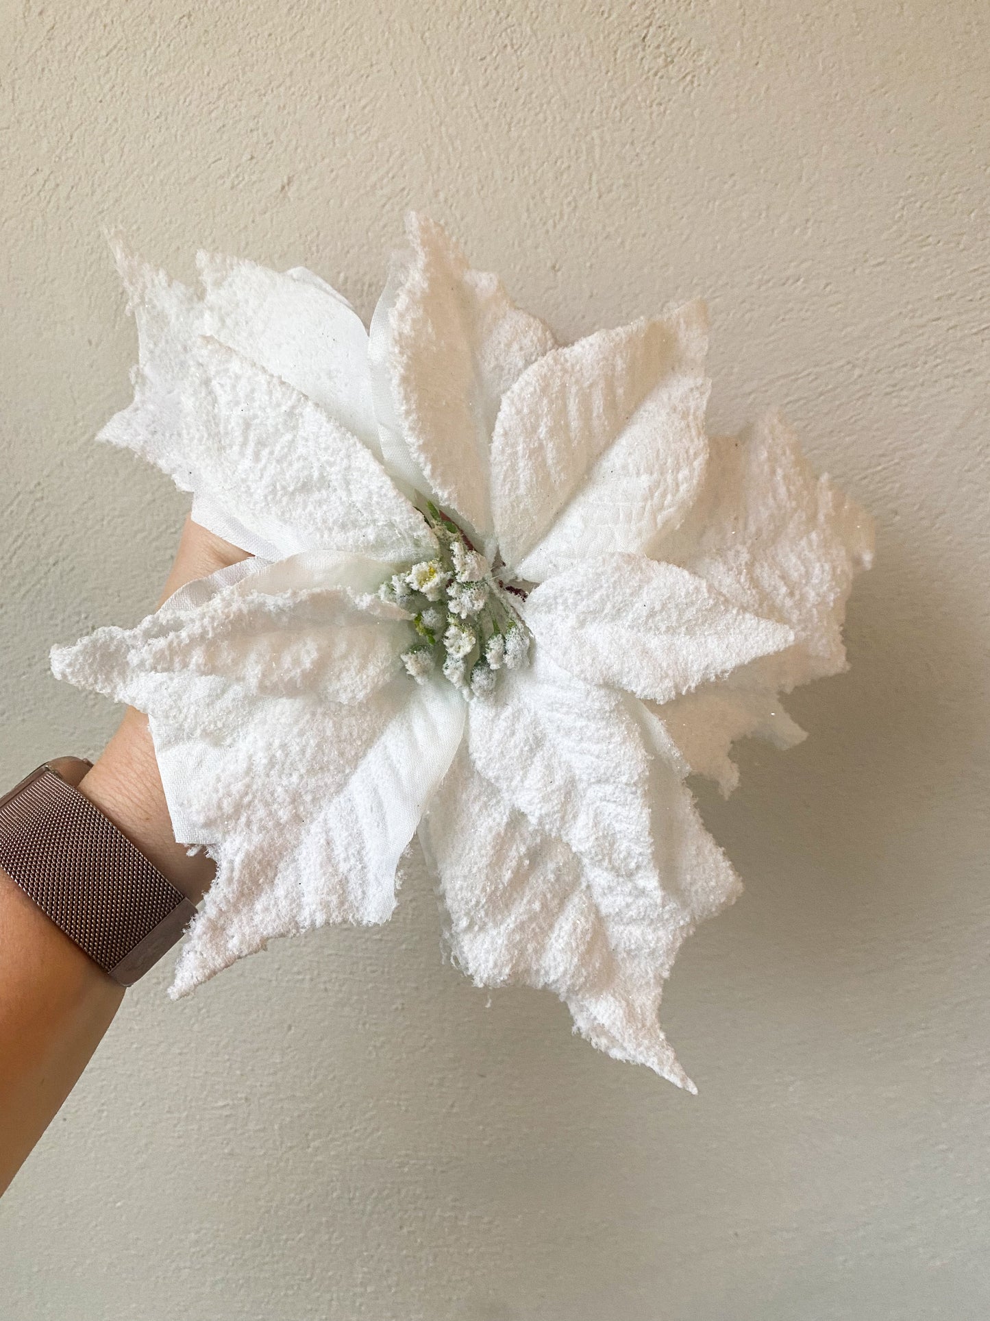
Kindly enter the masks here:
M 593 1045 L 694 1091 L 657 1021 L 663 983 L 684 938 L 739 884 L 659 758 L 651 795 L 656 867 L 614 872 L 513 807 L 465 744 L 420 838 L 453 955 L 478 985 L 552 989 Z

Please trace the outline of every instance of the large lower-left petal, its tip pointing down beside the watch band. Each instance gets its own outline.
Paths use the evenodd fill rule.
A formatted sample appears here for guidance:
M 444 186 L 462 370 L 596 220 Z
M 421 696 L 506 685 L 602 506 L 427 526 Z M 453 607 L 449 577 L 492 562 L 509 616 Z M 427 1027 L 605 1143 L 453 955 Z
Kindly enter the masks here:
M 449 684 L 401 679 L 358 708 L 366 723 L 354 731 L 327 727 L 325 709 L 300 712 L 313 720 L 305 736 L 286 731 L 292 766 L 275 768 L 282 778 L 273 794 L 251 778 L 259 769 L 265 777 L 267 765 L 214 768 L 220 807 L 202 832 L 222 835 L 210 847 L 218 873 L 176 966 L 173 996 L 275 937 L 392 915 L 399 859 L 457 752 L 465 703 Z M 265 746 L 277 756 L 271 733 Z M 198 778 L 210 785 L 209 774 Z M 244 795 L 236 804 L 231 790 Z

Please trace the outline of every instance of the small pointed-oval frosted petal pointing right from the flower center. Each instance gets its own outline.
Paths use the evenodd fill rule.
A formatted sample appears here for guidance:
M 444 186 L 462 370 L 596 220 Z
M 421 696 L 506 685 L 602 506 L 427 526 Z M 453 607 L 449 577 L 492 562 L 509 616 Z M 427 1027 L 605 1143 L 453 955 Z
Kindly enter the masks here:
M 669 701 L 755 657 L 791 630 L 739 610 L 673 564 L 615 553 L 541 583 L 523 608 L 537 643 L 590 683 Z

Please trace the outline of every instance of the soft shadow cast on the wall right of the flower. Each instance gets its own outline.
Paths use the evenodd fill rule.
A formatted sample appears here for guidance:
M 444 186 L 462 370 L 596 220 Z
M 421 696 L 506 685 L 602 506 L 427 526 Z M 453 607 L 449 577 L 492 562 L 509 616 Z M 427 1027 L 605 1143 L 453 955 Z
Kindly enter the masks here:
M 952 872 L 919 840 L 944 841 L 924 823 L 945 811 L 946 785 L 977 750 L 970 712 L 985 663 L 979 629 L 968 627 L 974 602 L 937 565 L 923 575 L 911 550 L 882 536 L 875 568 L 857 580 L 850 671 L 785 699 L 808 740 L 783 754 L 741 744 L 742 785 L 727 802 L 694 785 L 746 882 L 730 919 L 759 909 L 750 939 L 785 947 L 809 975 L 850 941 L 879 951 L 931 930 L 946 898 Z

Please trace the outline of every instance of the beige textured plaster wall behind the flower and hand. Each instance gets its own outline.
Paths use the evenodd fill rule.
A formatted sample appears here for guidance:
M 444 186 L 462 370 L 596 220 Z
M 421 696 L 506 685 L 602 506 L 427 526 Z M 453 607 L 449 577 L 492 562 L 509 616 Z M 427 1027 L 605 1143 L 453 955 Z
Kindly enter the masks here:
M 0 771 L 115 712 L 48 646 L 153 601 L 183 501 L 91 436 L 102 226 L 370 312 L 414 205 L 562 336 L 708 295 L 711 419 L 783 404 L 879 518 L 850 675 L 702 807 L 690 1096 L 487 1007 L 428 885 L 191 1001 L 160 968 L 0 1203 L 3 1321 L 983 1318 L 987 148 L 979 0 L 4 0 Z

